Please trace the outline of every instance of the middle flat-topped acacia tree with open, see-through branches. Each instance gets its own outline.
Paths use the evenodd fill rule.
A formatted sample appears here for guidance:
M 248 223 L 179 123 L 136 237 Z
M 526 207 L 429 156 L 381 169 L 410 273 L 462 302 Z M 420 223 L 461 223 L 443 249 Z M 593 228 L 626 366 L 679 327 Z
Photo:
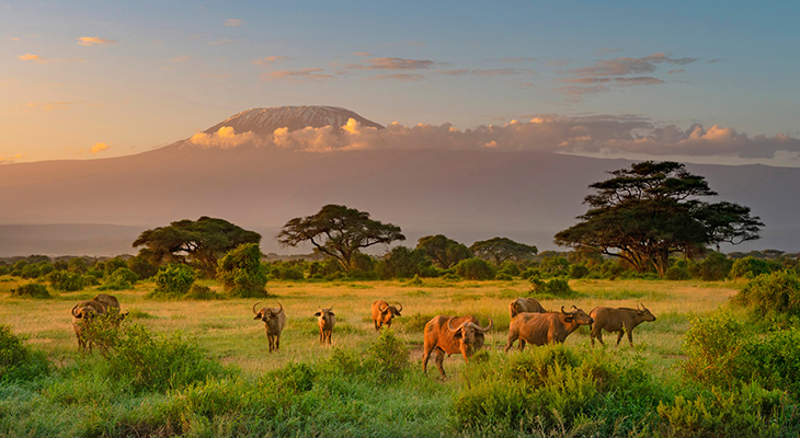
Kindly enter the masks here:
M 400 227 L 369 219 L 369 214 L 355 208 L 329 204 L 316 215 L 286 222 L 277 234 L 284 246 L 310 242 L 315 252 L 339 261 L 346 273 L 353 268 L 353 257 L 362 249 L 379 243 L 405 240 Z

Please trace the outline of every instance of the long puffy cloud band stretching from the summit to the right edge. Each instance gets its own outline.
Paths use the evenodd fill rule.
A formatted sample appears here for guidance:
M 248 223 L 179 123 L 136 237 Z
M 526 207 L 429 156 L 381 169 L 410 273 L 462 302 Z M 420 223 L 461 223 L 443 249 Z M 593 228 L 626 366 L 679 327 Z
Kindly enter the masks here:
M 204 135 L 207 136 L 207 135 Z M 573 154 L 644 154 L 649 157 L 693 155 L 769 159 L 781 155 L 800 158 L 800 139 L 785 134 L 750 137 L 730 127 L 705 128 L 694 124 L 687 129 L 659 125 L 639 116 L 558 116 L 537 115 L 527 122 L 483 125 L 456 129 L 397 122 L 385 129 L 363 127 L 348 120 L 342 127 L 308 127 L 275 130 L 262 145 L 311 152 L 353 149 L 494 149 L 534 150 Z

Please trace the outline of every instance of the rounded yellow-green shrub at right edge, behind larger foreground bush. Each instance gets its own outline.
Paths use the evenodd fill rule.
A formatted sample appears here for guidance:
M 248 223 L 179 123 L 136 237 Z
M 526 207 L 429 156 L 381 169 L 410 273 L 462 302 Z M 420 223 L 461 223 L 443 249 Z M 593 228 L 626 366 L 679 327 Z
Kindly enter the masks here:
M 758 315 L 800 314 L 800 279 L 796 274 L 779 270 L 762 274 L 736 293 L 733 301 L 753 309 Z

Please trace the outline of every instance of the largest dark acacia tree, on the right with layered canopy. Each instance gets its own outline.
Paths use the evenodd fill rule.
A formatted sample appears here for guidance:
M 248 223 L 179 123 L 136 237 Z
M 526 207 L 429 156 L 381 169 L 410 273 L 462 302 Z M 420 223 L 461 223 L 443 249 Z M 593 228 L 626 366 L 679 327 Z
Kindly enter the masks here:
M 652 265 L 663 277 L 671 253 L 758 239 L 764 226 L 747 207 L 699 200 L 717 194 L 681 163 L 644 161 L 609 173 L 590 185 L 588 211 L 556 234 L 557 244 L 619 257 L 639 272 Z

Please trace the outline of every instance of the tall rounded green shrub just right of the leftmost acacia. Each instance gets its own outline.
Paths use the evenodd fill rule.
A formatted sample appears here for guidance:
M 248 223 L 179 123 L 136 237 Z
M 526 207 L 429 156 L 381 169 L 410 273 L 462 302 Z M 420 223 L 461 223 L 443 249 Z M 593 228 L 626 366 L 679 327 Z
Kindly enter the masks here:
M 217 278 L 232 297 L 265 297 L 266 269 L 261 264 L 259 244 L 245 243 L 228 252 L 219 261 Z

